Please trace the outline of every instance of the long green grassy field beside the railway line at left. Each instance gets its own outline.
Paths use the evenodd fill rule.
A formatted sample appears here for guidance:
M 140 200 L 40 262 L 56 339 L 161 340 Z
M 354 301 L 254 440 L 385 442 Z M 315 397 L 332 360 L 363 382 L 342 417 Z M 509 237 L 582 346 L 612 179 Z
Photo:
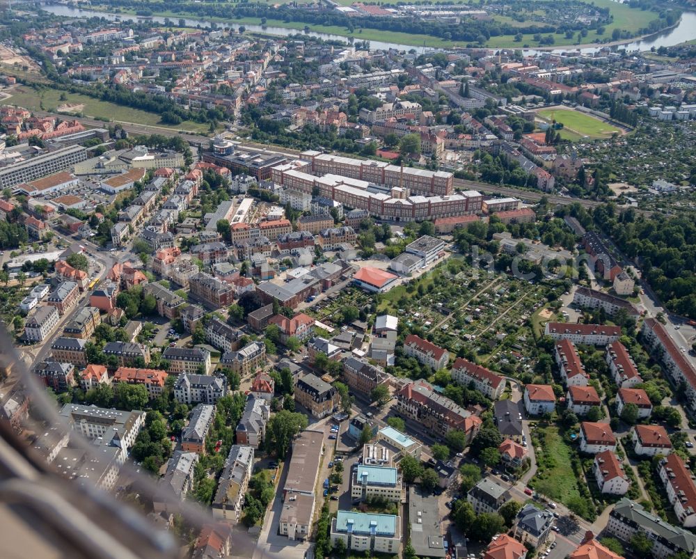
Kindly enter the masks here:
M 187 132 L 207 132 L 208 125 L 204 123 L 193 123 L 190 120 L 185 120 L 180 125 L 170 126 L 159 122 L 159 115 L 149 113 L 148 111 L 140 111 L 139 109 L 131 109 L 130 107 L 122 107 L 121 105 L 100 101 L 80 95 L 79 93 L 65 92 L 65 100 L 61 100 L 61 93 L 55 89 L 45 89 L 40 93 L 30 87 L 19 86 L 13 89 L 13 94 L 7 100 L 6 104 L 15 104 L 31 111 L 55 111 L 62 104 L 82 104 L 84 108 L 79 112 L 85 116 L 98 118 L 109 118 L 110 120 L 120 121 L 123 123 L 138 123 L 150 126 L 161 126 L 163 128 L 182 129 Z

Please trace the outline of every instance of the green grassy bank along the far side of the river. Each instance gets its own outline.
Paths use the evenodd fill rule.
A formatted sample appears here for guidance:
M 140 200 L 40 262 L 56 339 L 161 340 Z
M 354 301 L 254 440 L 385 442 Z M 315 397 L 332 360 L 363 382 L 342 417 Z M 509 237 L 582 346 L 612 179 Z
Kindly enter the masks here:
M 578 44 L 576 42 L 576 36 L 573 38 L 566 38 L 564 35 L 555 34 L 553 35 L 553 38 L 555 40 L 554 45 L 536 46 L 539 45 L 539 42 L 534 39 L 534 35 L 525 34 L 519 41 L 514 40 L 514 37 L 509 35 L 491 37 L 487 42 L 484 43 L 484 45 L 480 46 L 487 47 L 490 49 L 532 49 L 544 52 L 553 52 L 558 49 L 564 49 L 565 47 L 568 47 L 568 50 L 575 50 L 599 49 L 602 47 L 629 45 L 633 42 L 645 40 L 655 35 L 655 33 L 653 33 L 651 35 L 637 36 L 631 39 L 602 42 L 601 39 L 610 36 L 614 29 L 622 29 L 630 33 L 635 33 L 639 29 L 644 29 L 644 27 L 646 27 L 652 19 L 655 19 L 656 14 L 653 12 L 628 8 L 627 6 L 624 6 L 623 4 L 617 3 L 612 0 L 596 0 L 596 2 L 598 2 L 599 7 L 606 7 L 612 10 L 612 14 L 614 15 L 614 22 L 606 26 L 606 29 L 603 35 L 601 36 L 598 35 L 594 30 L 589 31 L 587 33 L 587 36 L 583 39 L 585 42 L 583 42 L 582 44 Z M 53 7 L 54 6 L 47 6 L 47 8 Z M 116 9 L 118 9 L 118 11 L 114 10 L 111 6 L 93 5 L 84 11 L 87 13 L 95 13 L 95 15 L 103 13 L 121 17 L 137 17 L 136 10 L 134 9 Z M 47 11 L 56 13 L 56 10 L 54 9 L 49 9 Z M 60 13 L 58 15 L 70 16 L 70 14 L 68 13 Z M 409 49 L 409 47 L 452 48 L 466 47 L 467 45 L 471 44 L 469 42 L 445 40 L 430 35 L 414 35 L 411 33 L 400 33 L 397 31 L 381 31 L 379 29 L 369 28 L 358 28 L 351 33 L 351 31 L 347 27 L 305 24 L 304 22 L 286 22 L 282 19 L 267 19 L 266 24 L 264 26 L 261 26 L 261 19 L 255 17 L 242 17 L 232 19 L 225 17 L 200 16 L 193 12 L 175 13 L 171 10 L 153 10 L 152 16 L 160 18 L 167 17 L 171 19 L 173 23 L 177 22 L 179 19 L 184 18 L 189 19 L 189 22 L 196 21 L 202 22 L 203 24 L 205 24 L 206 22 L 214 22 L 216 24 L 221 24 L 230 27 L 237 27 L 240 25 L 255 26 L 258 27 L 258 29 L 249 29 L 249 31 L 260 31 L 268 33 L 270 35 L 287 35 L 287 33 L 283 32 L 274 33 L 274 30 L 272 28 L 296 31 L 304 31 L 305 29 L 308 29 L 310 31 L 310 34 L 316 33 L 319 36 L 333 36 L 322 38 L 335 38 L 338 40 L 349 40 L 352 38 L 353 40 L 368 40 L 370 42 L 375 42 L 382 45 L 392 43 L 395 47 L 400 47 L 401 49 Z M 675 26 L 679 26 L 679 22 L 677 22 Z M 663 29 L 662 31 L 659 31 L 658 34 L 669 32 L 670 29 L 673 28 Z M 372 48 L 383 47 L 375 45 Z

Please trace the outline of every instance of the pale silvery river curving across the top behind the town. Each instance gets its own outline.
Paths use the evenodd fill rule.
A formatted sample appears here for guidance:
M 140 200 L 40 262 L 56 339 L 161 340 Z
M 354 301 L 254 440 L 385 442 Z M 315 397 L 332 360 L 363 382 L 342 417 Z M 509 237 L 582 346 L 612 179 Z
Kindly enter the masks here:
M 55 15 L 62 15 L 63 17 L 104 17 L 104 19 L 109 19 L 111 21 L 116 21 L 118 17 L 122 21 L 127 21 L 128 19 L 136 19 L 132 15 L 117 15 L 113 13 L 101 12 L 97 10 L 82 10 L 80 8 L 72 8 L 70 6 L 65 6 L 63 4 L 46 4 L 42 6 L 42 10 L 53 13 Z M 153 15 L 151 18 L 153 22 L 164 24 L 166 18 Z M 187 26 L 189 27 L 209 27 L 212 22 L 205 21 L 205 19 L 191 19 L 189 17 L 170 17 L 171 21 L 178 22 L 179 19 L 184 19 Z M 230 22 L 215 22 L 217 26 L 239 26 L 233 19 Z M 269 35 L 275 35 L 280 37 L 287 37 L 289 35 L 308 35 L 311 37 L 318 37 L 324 40 L 338 40 L 347 42 L 347 38 L 340 35 L 333 35 L 331 33 L 317 33 L 316 31 L 309 31 L 308 33 L 300 31 L 299 29 L 286 29 L 285 27 L 276 26 L 260 26 L 255 24 L 243 24 L 247 31 L 253 31 L 256 33 L 268 33 Z M 356 40 L 362 40 L 360 35 L 355 36 Z M 688 40 L 696 39 L 696 12 L 686 11 L 681 15 L 679 23 L 672 27 L 672 29 L 667 29 L 661 33 L 656 33 L 655 35 L 643 38 L 637 41 L 626 41 L 622 45 L 616 45 L 612 47 L 615 50 L 626 50 L 628 52 L 633 51 L 648 51 L 652 47 L 658 49 L 659 47 L 672 47 L 673 45 L 678 45 L 680 42 L 685 42 Z M 413 45 L 399 45 L 394 42 L 383 42 L 383 41 L 368 41 L 370 43 L 370 49 L 397 49 L 402 51 L 409 51 L 411 49 L 416 49 L 417 52 L 425 52 L 426 50 L 433 50 L 426 47 L 414 47 Z M 594 54 L 599 52 L 603 47 L 562 47 L 558 49 L 553 49 L 550 52 L 561 54 L 563 52 L 579 52 L 582 54 Z M 524 54 L 539 54 L 541 50 L 535 49 L 524 49 Z M 546 51 L 549 52 L 549 51 Z

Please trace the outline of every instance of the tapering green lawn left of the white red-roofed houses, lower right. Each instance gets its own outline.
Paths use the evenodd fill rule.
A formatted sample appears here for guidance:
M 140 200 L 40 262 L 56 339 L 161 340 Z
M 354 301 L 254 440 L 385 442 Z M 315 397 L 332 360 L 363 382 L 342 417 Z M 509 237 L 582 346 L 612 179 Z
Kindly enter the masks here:
M 558 427 L 539 428 L 541 449 L 536 450 L 539 470 L 530 485 L 539 493 L 554 501 L 566 503 L 571 497 L 579 497 L 578 480 L 571 466 L 571 451 L 563 441 Z

